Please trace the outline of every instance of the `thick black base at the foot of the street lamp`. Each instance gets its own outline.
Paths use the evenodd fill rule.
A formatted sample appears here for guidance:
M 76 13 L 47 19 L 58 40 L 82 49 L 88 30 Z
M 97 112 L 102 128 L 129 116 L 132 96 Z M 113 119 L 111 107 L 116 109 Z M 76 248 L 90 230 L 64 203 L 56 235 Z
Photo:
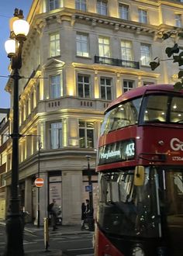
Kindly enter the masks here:
M 19 215 L 10 214 L 6 221 L 7 242 L 4 256 L 23 256 L 23 223 Z

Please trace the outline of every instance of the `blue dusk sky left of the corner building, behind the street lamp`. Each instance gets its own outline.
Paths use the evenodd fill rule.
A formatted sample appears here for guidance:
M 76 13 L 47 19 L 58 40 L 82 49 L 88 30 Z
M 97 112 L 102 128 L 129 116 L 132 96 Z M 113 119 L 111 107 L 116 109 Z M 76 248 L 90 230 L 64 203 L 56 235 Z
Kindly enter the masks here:
M 24 17 L 29 12 L 33 0 L 5 0 L 0 1 L 0 109 L 10 107 L 10 95 L 5 92 L 5 85 L 9 78 L 9 58 L 5 52 L 5 40 L 9 39 L 9 19 L 13 16 L 15 8 L 22 9 Z

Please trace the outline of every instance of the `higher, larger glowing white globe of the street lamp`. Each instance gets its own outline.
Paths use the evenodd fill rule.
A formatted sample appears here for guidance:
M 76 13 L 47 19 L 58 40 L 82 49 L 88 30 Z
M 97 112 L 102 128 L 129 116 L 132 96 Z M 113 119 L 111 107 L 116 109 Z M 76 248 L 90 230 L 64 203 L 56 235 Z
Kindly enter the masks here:
M 26 36 L 29 33 L 29 23 L 24 19 L 16 19 L 12 24 L 12 30 L 18 40 L 19 37 L 22 38 L 22 40 L 26 40 Z

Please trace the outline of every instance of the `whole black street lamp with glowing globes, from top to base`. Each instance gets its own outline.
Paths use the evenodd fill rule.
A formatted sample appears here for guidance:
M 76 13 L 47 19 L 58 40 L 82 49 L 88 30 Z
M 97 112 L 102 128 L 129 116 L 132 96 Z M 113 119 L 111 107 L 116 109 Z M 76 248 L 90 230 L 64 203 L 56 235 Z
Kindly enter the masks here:
M 29 23 L 23 20 L 22 10 L 15 9 L 10 19 L 10 39 L 5 50 L 11 60 L 13 79 L 13 120 L 12 120 L 12 182 L 9 213 L 6 221 L 7 244 L 5 256 L 23 256 L 23 225 L 19 207 L 19 69 L 22 67 L 22 45 L 29 33 Z

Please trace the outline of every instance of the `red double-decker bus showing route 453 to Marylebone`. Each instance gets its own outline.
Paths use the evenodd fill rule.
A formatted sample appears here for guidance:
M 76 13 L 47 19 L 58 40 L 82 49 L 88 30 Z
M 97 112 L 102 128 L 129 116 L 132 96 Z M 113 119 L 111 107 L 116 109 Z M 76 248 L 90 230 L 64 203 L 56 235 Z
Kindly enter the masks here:
M 183 255 L 183 91 L 146 85 L 105 111 L 95 256 Z

